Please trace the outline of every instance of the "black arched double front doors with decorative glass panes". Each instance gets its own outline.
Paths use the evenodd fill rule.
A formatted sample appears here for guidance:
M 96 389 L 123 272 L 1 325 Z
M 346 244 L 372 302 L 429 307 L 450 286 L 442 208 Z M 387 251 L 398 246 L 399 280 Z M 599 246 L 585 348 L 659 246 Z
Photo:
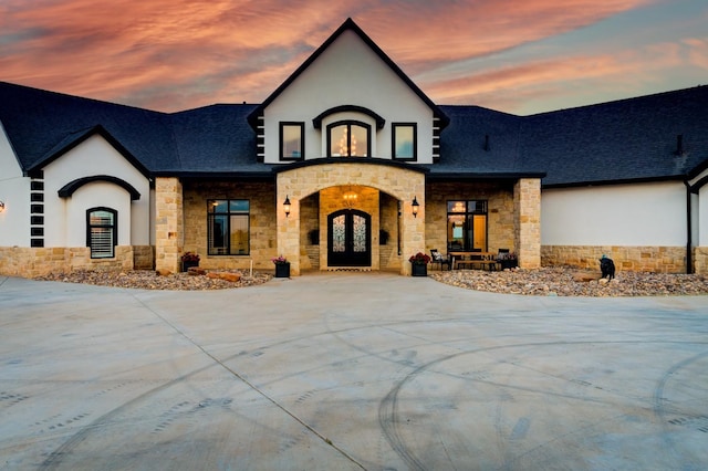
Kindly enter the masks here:
M 356 209 L 327 216 L 327 264 L 369 266 L 372 264 L 372 217 Z

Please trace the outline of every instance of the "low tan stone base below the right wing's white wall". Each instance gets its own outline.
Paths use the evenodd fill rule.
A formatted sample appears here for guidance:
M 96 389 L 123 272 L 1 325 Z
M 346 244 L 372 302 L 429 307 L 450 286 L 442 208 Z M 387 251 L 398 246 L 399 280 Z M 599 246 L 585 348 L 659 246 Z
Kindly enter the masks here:
M 541 248 L 541 261 L 544 266 L 570 265 L 600 270 L 598 259 L 602 255 L 611 258 L 617 270 L 686 273 L 686 248 L 684 247 L 543 245 Z

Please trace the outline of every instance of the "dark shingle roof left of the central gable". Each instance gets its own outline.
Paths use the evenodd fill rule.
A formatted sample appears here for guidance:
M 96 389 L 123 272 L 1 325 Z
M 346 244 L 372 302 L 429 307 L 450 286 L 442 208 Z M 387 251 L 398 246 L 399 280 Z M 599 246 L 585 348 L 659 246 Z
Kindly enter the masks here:
M 254 105 L 166 114 L 0 82 L 0 122 L 20 167 L 40 169 L 100 134 L 153 175 L 270 171 L 254 159 Z

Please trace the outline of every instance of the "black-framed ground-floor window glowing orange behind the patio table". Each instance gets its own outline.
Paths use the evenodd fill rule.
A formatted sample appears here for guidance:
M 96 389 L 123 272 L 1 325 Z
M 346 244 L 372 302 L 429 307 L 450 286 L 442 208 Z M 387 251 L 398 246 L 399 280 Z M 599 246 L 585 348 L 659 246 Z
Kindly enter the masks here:
M 447 202 L 448 251 L 487 251 L 487 201 Z

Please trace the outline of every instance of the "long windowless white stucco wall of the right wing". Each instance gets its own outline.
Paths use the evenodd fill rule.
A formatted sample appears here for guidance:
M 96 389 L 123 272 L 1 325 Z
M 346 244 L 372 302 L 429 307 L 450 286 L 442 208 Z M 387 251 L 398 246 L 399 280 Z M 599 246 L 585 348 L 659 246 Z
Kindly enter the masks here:
M 542 245 L 681 247 L 686 241 L 681 181 L 542 191 Z

